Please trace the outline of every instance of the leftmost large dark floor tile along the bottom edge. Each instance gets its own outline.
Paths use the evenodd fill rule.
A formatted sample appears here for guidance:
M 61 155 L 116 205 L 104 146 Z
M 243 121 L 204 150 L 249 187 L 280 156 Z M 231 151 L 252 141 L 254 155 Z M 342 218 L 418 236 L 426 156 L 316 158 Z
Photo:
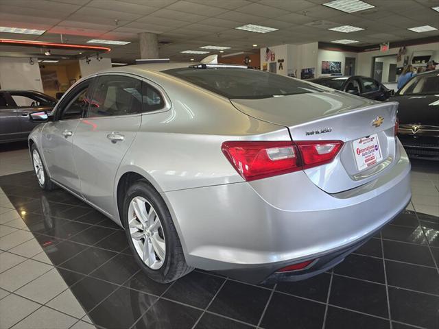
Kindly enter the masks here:
M 156 297 L 120 287 L 95 307 L 88 317 L 97 326 L 130 328 L 156 300 Z

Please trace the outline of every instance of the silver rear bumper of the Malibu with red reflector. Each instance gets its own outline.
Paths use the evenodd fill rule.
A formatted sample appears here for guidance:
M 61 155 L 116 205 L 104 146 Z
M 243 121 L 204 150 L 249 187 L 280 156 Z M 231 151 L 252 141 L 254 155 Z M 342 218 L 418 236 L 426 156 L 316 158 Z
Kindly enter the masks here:
M 252 283 L 333 267 L 410 202 L 410 162 L 399 147 L 390 170 L 343 193 L 325 193 L 303 172 L 163 193 L 188 265 Z M 275 273 L 314 258 L 309 269 Z

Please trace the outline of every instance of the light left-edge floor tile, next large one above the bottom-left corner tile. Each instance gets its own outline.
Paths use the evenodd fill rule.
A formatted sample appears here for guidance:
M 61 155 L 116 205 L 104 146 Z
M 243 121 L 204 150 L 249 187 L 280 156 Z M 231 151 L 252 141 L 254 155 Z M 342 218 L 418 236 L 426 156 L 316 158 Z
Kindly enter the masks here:
M 0 274 L 0 288 L 14 291 L 53 268 L 53 266 L 37 262 L 36 260 L 25 260 L 25 262 Z

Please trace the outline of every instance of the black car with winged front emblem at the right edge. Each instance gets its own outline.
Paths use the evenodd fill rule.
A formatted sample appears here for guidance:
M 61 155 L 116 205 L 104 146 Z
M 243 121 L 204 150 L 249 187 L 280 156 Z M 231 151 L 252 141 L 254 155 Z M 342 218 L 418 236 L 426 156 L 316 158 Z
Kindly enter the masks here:
M 415 75 L 389 101 L 399 103 L 399 139 L 407 154 L 439 160 L 439 71 Z

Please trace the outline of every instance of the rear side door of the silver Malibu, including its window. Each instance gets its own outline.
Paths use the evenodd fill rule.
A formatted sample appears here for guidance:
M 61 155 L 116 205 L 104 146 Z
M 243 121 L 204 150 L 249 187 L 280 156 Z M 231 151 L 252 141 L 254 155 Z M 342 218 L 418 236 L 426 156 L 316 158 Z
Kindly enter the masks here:
M 128 75 L 98 77 L 73 141 L 82 195 L 110 217 L 117 212 L 116 172 L 141 124 L 141 83 Z

